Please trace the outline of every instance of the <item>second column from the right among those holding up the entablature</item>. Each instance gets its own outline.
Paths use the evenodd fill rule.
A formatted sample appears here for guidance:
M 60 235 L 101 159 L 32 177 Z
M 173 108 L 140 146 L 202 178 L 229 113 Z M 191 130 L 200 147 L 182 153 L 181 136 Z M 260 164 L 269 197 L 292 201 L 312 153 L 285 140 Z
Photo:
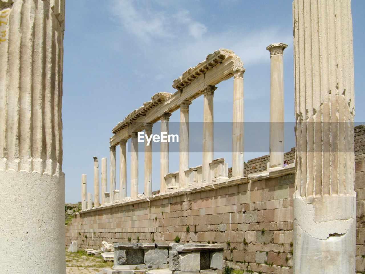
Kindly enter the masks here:
M 213 95 L 217 88 L 208 85 L 203 90 L 204 116 L 203 116 L 203 183 L 210 183 L 209 163 L 214 157 L 214 118 L 213 118 Z

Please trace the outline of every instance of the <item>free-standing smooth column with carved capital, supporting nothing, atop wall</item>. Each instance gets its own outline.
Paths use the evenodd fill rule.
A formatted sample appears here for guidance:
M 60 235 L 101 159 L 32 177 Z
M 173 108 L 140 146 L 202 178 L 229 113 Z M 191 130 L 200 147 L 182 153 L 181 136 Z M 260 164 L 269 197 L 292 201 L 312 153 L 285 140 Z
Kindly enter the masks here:
M 284 167 L 284 63 L 288 45 L 271 44 L 270 51 L 270 162 L 269 168 Z

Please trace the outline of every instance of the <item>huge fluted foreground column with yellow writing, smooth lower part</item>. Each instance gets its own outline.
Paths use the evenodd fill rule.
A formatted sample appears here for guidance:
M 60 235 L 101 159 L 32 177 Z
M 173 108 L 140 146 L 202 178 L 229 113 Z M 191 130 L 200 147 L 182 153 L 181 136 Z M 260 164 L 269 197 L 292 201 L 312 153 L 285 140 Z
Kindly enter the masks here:
M 0 269 L 64 274 L 65 1 L 0 3 Z

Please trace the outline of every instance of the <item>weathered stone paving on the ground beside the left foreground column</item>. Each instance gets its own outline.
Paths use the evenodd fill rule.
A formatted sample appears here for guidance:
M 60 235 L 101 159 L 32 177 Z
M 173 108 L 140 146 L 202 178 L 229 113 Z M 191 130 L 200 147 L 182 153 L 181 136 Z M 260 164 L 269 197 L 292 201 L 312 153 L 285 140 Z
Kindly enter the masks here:
M 95 274 L 102 273 L 103 268 L 111 268 L 113 262 L 104 262 L 99 257 L 86 255 L 85 252 L 66 252 L 66 274 Z

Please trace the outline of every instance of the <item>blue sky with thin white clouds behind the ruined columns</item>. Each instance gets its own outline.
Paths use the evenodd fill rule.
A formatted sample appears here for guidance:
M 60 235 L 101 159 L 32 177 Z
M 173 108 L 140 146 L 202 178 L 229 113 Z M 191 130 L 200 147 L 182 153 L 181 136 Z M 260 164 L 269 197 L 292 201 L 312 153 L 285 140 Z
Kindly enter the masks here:
M 351 5 L 355 121 L 364 123 L 365 1 L 353 0 Z M 245 122 L 269 121 L 270 53 L 265 48 L 277 42 L 289 45 L 284 51 L 284 111 L 285 121 L 294 122 L 291 1 L 66 1 L 62 104 L 66 202 L 81 201 L 83 173 L 87 174 L 87 191 L 93 193 L 93 156 L 99 161 L 108 157 L 109 166 L 112 128 L 155 93 L 175 92 L 171 86 L 173 80 L 220 47 L 233 50 L 245 64 Z M 231 122 L 233 80 L 217 87 L 214 119 Z M 197 98 L 190 106 L 192 122 L 202 121 L 202 99 L 202 96 Z M 178 122 L 179 115 L 180 111 L 175 111 L 170 121 Z M 154 133 L 158 129 L 159 125 L 155 125 Z M 219 135 L 215 132 L 215 137 Z M 294 129 L 288 130 L 285 151 L 295 146 L 293 136 Z M 230 134 L 225 137 L 229 142 Z M 215 140 L 216 147 L 222 145 L 220 138 Z M 268 142 L 262 145 L 269 150 Z M 245 153 L 245 160 L 265 154 Z M 219 152 L 214 156 L 226 158 L 231 166 L 230 153 Z M 190 166 L 201 164 L 201 157 L 201 153 L 191 153 Z M 127 158 L 129 179 L 130 155 Z M 139 159 L 139 193 L 142 193 L 142 153 Z M 160 153 L 153 153 L 153 190 L 159 189 L 160 184 L 159 159 Z M 170 153 L 170 172 L 177 170 L 178 153 Z

